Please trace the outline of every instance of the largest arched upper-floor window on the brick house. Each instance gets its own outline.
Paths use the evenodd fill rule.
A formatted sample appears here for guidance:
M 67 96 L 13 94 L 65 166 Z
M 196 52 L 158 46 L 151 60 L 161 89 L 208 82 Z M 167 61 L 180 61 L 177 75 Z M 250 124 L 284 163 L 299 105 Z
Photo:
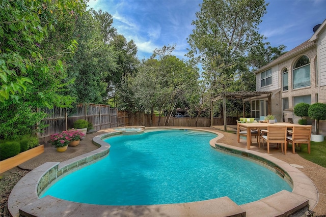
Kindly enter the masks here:
M 293 89 L 310 86 L 310 62 L 305 55 L 300 57 L 293 69 Z

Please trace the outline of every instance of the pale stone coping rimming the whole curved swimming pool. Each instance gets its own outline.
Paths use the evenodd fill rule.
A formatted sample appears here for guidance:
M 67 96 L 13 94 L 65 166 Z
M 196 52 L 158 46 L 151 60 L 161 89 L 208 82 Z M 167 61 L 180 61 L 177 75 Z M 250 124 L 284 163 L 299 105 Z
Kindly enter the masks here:
M 9 199 L 8 209 L 12 216 L 287 216 L 297 209 L 305 206 L 314 207 L 318 202 L 318 191 L 313 182 L 303 172 L 290 166 L 267 153 L 260 153 L 223 143 L 219 139 L 222 133 L 196 128 L 173 128 L 173 127 L 152 127 L 146 130 L 159 129 L 189 129 L 198 131 L 208 131 L 217 134 L 218 137 L 210 141 L 213 148 L 219 149 L 237 157 L 246 158 L 255 163 L 274 170 L 277 174 L 286 177 L 288 183 L 293 185 L 292 192 L 281 191 L 258 201 L 237 205 L 228 197 L 212 200 L 181 203 L 162 204 L 148 206 L 106 206 L 75 203 L 61 200 L 51 196 L 38 198 L 39 194 L 46 191 L 50 184 L 56 182 L 58 177 L 69 174 L 77 169 L 92 164 L 110 151 L 110 144 L 102 139 L 122 134 L 122 132 L 110 132 L 95 136 L 93 143 L 99 146 L 98 149 L 83 154 L 65 162 L 48 162 L 26 174 L 14 187 Z M 266 161 L 261 161 L 266 159 Z M 273 166 L 271 166 L 273 165 Z M 282 172 L 283 171 L 283 172 Z M 57 179 L 58 180 L 58 179 Z M 105 185 L 107 183 L 94 183 L 94 185 Z

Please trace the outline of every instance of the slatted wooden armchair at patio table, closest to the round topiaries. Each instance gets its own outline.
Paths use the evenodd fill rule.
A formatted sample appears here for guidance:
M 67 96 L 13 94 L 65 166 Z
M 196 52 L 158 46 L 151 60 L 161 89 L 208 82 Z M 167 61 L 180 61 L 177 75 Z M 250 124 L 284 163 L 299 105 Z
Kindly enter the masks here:
M 286 148 L 289 143 L 292 143 L 292 152 L 295 153 L 295 145 L 298 145 L 301 150 L 301 144 L 308 145 L 308 153 L 310 153 L 310 137 L 311 126 L 293 126 L 292 136 L 286 138 Z

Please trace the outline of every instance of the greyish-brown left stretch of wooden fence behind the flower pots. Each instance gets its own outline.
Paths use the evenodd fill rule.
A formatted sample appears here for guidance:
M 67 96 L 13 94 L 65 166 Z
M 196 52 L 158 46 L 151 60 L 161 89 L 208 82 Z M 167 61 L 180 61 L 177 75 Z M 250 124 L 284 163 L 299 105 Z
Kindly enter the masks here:
M 46 143 L 52 134 L 73 128 L 74 121 L 78 119 L 85 119 L 92 123 L 93 129 L 88 131 L 90 133 L 101 129 L 124 127 L 129 122 L 127 112 L 120 112 L 117 108 L 111 108 L 109 105 L 78 104 L 76 112 L 69 116 L 65 108 L 45 108 L 42 111 L 48 114 L 48 117 L 43 120 L 48 127 L 38 135 L 40 143 Z M 118 117 L 119 115 L 121 118 Z

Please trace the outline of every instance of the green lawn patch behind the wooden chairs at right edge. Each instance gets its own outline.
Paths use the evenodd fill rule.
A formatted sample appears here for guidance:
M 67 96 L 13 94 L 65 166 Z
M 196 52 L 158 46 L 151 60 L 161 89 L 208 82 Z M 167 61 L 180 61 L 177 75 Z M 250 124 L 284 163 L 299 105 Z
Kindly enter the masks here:
M 292 150 L 291 144 L 289 144 L 288 149 Z M 301 151 L 299 147 L 296 147 L 295 152 L 302 158 L 326 168 L 326 141 L 311 142 L 310 154 L 308 154 L 308 145 L 305 144 L 301 145 Z

